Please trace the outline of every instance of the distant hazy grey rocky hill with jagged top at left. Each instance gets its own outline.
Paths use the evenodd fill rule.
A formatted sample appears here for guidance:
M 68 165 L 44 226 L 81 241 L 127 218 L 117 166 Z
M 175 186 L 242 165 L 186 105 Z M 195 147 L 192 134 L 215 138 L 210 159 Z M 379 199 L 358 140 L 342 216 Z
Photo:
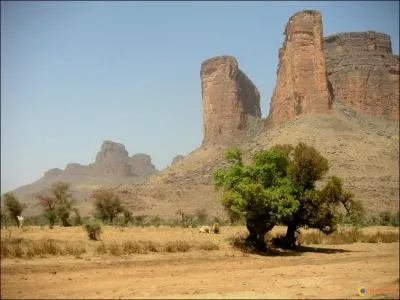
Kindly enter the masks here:
M 94 163 L 70 163 L 64 170 L 48 170 L 39 180 L 12 192 L 27 204 L 24 213 L 35 215 L 40 212 L 36 195 L 47 193 L 54 182 L 66 181 L 71 184 L 72 194 L 78 200 L 78 208 L 85 214 L 92 209 L 85 199 L 93 190 L 123 183 L 138 183 L 157 172 L 149 155 L 139 153 L 129 157 L 124 145 L 104 141 Z

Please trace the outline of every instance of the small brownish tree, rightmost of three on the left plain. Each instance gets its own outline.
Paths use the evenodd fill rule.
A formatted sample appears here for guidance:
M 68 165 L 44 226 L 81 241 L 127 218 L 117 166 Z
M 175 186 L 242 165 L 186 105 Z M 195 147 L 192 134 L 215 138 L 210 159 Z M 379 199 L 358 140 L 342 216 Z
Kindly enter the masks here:
M 113 222 L 114 218 L 124 211 L 121 200 L 113 192 L 105 190 L 94 191 L 91 195 L 98 216 L 105 221 Z

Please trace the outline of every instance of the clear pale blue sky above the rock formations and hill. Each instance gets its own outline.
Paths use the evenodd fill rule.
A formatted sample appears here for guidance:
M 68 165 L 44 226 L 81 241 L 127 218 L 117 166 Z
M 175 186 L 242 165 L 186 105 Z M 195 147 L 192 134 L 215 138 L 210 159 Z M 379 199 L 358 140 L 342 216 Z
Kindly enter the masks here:
M 290 16 L 319 10 L 324 36 L 374 30 L 399 53 L 399 2 L 1 1 L 1 192 L 104 140 L 164 169 L 203 135 L 201 63 L 233 55 L 268 115 Z

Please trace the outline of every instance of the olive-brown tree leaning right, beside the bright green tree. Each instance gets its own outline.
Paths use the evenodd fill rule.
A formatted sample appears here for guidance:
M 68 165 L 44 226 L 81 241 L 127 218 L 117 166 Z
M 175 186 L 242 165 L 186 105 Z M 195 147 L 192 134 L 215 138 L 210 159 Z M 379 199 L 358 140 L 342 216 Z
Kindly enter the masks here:
M 280 241 L 282 246 L 294 248 L 295 233 L 304 226 L 319 229 L 326 234 L 335 231 L 342 218 L 341 206 L 353 219 L 359 220 L 363 217 L 361 203 L 354 200 L 350 191 L 343 189 L 339 177 L 330 177 L 321 190 L 316 189 L 316 182 L 323 179 L 329 166 L 327 159 L 314 147 L 304 143 L 299 143 L 291 150 L 287 145 L 279 147 L 288 149 L 284 152 L 290 161 L 288 177 L 294 187 L 294 196 L 299 202 L 298 209 L 283 219 L 283 223 L 287 225 L 287 232 Z

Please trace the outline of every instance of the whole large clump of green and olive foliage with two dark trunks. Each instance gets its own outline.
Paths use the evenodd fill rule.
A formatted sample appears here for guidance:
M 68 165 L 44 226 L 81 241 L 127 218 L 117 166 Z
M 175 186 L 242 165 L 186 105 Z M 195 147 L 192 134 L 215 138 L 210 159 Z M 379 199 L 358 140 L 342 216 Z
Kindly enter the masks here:
M 259 248 L 265 247 L 265 233 L 278 223 L 288 226 L 283 246 L 293 248 L 300 227 L 333 232 L 340 218 L 339 204 L 348 213 L 362 211 L 340 178 L 333 176 L 321 190 L 316 188 L 329 170 L 328 161 L 304 143 L 258 151 L 248 165 L 237 148 L 229 149 L 226 158 L 229 165 L 214 173 L 215 186 L 222 190 L 221 203 L 229 215 L 246 219 L 248 241 Z

